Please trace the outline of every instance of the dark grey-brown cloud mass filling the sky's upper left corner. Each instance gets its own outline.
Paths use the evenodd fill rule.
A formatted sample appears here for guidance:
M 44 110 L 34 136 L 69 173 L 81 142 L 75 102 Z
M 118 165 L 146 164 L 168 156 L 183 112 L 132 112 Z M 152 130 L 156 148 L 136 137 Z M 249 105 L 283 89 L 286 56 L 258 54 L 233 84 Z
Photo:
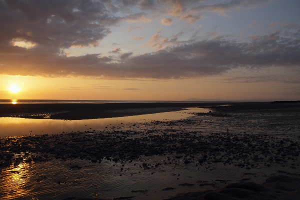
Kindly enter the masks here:
M 13 38 L 58 51 L 70 46 L 97 45 L 119 17 L 104 3 L 92 0 L 7 0 L 1 5 L 1 45 Z

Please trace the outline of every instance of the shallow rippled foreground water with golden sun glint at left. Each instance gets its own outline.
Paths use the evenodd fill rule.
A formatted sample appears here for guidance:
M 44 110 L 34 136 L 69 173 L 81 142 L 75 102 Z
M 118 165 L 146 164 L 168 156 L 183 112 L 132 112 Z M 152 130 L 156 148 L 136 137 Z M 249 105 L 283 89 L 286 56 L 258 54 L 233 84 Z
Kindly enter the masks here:
M 243 178 L 261 184 L 267 177 L 280 174 L 276 170 L 283 168 L 280 165 L 266 167 L 261 164 L 261 167 L 249 170 L 222 163 L 204 163 L 196 166 L 197 162 L 183 164 L 180 159 L 178 164 L 162 164 L 150 169 L 140 167 L 143 162 L 153 166 L 166 159 L 165 156 L 154 155 L 124 163 L 107 160 L 92 163 L 89 160 L 78 159 L 20 163 L 2 169 L 0 198 L 62 199 L 76 196 L 112 199 L 134 196 L 134 199 L 165 199 L 180 192 L 215 189 Z M 69 163 L 76 163 L 82 168 L 69 168 Z M 120 168 L 124 169 L 121 171 Z M 298 171 L 288 169 L 288 172 Z M 179 185 L 182 183 L 194 185 Z M 201 183 L 207 185 L 200 186 Z M 165 187 L 174 189 L 162 190 Z

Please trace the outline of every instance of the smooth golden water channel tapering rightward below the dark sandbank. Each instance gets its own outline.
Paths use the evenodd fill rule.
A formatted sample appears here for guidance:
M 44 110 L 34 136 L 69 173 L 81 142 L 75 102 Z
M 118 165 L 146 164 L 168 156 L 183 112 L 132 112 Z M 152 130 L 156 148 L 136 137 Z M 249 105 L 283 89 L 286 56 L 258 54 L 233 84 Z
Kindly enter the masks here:
M 18 117 L 1 117 L 0 137 L 21 136 L 69 131 L 93 131 L 109 129 L 113 126 L 129 128 L 132 123 L 149 120 L 177 120 L 192 116 L 189 112 L 208 112 L 206 108 L 187 108 L 187 110 L 142 114 L 114 118 L 59 120 L 59 119 L 28 119 Z

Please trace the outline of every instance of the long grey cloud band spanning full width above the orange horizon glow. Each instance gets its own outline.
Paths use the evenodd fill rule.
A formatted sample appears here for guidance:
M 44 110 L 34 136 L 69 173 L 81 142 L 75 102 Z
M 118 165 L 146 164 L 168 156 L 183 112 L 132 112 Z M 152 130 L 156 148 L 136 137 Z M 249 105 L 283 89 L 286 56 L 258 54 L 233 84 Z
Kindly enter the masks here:
M 156 38 L 161 39 L 157 35 Z M 127 52 L 120 54 L 122 62 L 101 57 L 99 54 L 65 57 L 40 51 L 31 54 L 25 49 L 20 49 L 16 58 L 14 51 L 5 49 L 1 52 L 1 73 L 110 78 L 186 78 L 222 74 L 237 67 L 258 70 L 273 66 L 299 68 L 300 40 L 297 38 L 283 38 L 278 34 L 248 37 L 248 41 L 220 38 L 222 39 L 190 40 L 164 50 L 136 56 Z

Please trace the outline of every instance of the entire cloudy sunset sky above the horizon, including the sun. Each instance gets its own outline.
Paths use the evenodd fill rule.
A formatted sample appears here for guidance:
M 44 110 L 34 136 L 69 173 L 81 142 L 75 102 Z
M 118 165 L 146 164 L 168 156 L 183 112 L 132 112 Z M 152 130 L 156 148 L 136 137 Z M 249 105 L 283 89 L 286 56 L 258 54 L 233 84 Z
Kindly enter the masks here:
M 300 0 L 0 0 L 0 99 L 300 100 Z

